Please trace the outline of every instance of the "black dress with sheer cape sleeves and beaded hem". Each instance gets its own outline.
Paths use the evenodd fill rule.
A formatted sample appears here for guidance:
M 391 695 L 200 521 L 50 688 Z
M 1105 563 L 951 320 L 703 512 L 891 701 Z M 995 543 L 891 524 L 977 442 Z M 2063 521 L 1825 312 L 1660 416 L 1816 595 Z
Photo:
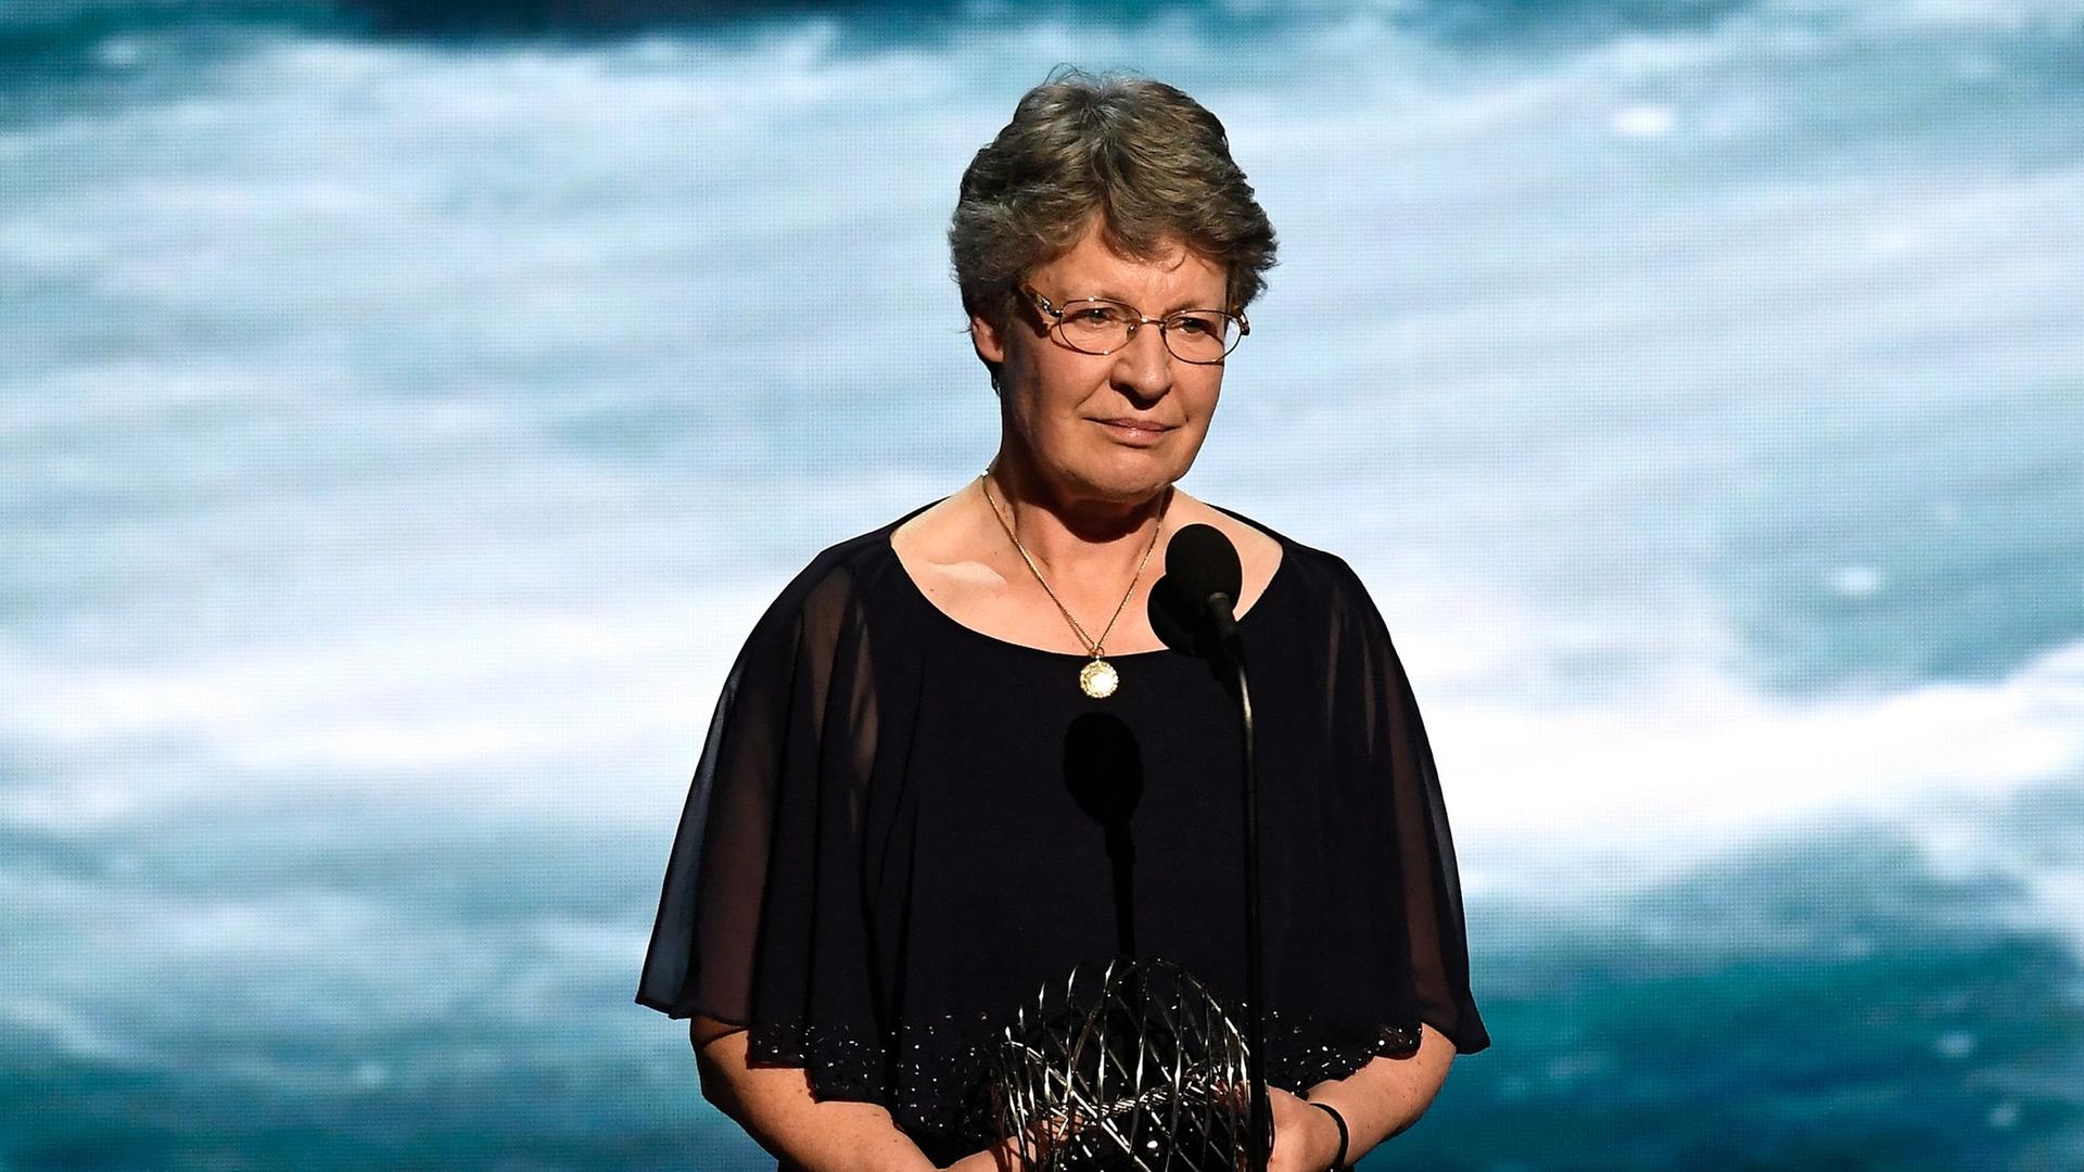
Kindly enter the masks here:
M 821 553 L 746 640 L 636 999 L 748 1026 L 754 1064 L 886 1105 L 948 1162 L 984 1145 L 984 1047 L 1073 966 L 1165 957 L 1242 1001 L 1240 734 L 1186 655 L 1109 655 L 1121 686 L 1092 701 L 1082 657 L 957 624 L 890 548 L 904 519 Z M 1242 634 L 1267 1080 L 1300 1091 L 1409 1053 L 1419 1022 L 1490 1039 L 1382 615 L 1342 559 L 1271 536 Z

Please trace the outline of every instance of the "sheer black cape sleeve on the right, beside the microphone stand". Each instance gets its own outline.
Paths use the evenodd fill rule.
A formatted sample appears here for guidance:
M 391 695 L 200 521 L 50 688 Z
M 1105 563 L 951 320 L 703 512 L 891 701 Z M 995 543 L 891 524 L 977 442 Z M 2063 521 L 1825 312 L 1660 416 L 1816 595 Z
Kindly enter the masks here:
M 1357 803 L 1371 824 L 1357 878 L 1378 890 L 1361 947 L 1380 949 L 1373 970 L 1390 974 L 1396 1001 L 1415 1014 L 1415 1022 L 1384 1026 L 1400 1026 L 1392 1032 L 1417 1047 L 1423 1022 L 1459 1053 L 1475 1053 L 1490 1034 L 1469 988 L 1461 876 L 1425 724 L 1367 588 L 1350 565 L 1325 557 L 1334 578 L 1330 717 L 1346 726 L 1334 734 L 1342 753 L 1357 757 L 1346 776 L 1371 790 Z

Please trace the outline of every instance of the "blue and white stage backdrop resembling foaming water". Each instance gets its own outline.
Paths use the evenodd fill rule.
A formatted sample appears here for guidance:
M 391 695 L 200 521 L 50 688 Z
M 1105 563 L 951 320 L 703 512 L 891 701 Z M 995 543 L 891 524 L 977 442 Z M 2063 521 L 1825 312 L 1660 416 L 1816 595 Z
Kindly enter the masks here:
M 2084 1166 L 2067 0 L 0 6 L 0 1168 L 752 1170 L 631 1003 L 719 682 L 996 436 L 1059 63 L 1282 236 L 1494 1049 L 1371 1168 Z M 433 15 L 429 15 L 433 13 Z

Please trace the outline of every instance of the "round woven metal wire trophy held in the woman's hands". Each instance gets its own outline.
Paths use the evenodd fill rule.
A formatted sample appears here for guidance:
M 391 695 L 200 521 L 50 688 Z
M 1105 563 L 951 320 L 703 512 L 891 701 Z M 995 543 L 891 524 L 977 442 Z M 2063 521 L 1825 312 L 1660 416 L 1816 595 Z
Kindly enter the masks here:
M 1246 1168 L 1244 1039 L 1171 961 L 1044 988 L 998 1039 L 992 1086 L 998 1134 L 1038 1172 Z

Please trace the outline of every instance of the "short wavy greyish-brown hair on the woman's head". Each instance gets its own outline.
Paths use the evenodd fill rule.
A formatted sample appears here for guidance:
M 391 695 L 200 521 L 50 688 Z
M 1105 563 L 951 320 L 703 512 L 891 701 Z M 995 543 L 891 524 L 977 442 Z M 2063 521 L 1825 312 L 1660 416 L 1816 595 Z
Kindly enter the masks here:
M 1021 98 L 963 171 L 948 227 L 963 309 L 1004 329 L 1019 279 L 1094 223 L 1125 257 L 1177 244 L 1221 265 L 1223 309 L 1267 288 L 1273 225 L 1230 158 L 1223 123 L 1163 81 L 1063 69 Z

